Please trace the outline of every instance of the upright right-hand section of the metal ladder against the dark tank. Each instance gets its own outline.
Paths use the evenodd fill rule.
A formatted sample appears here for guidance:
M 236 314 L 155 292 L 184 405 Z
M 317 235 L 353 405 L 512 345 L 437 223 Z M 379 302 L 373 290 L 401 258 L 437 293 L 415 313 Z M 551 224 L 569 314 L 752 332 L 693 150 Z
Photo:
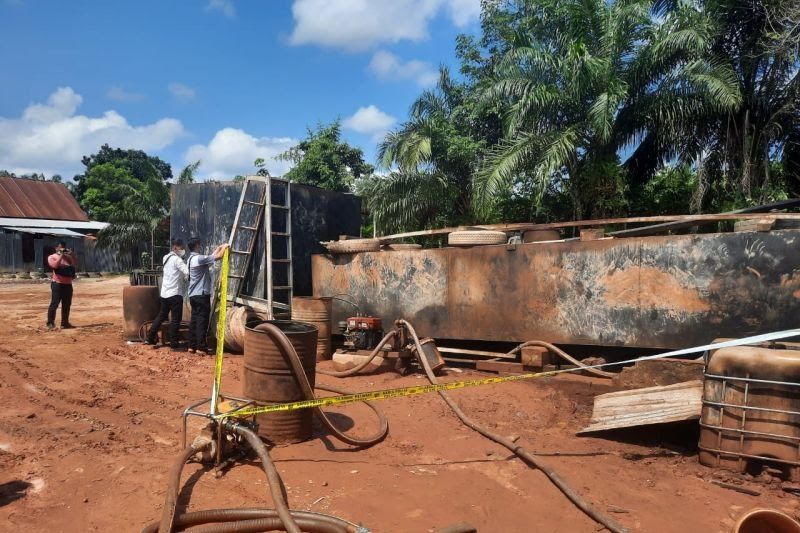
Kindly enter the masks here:
M 289 180 L 268 178 L 266 205 L 266 267 L 264 285 L 273 318 L 290 319 L 292 314 L 292 192 Z

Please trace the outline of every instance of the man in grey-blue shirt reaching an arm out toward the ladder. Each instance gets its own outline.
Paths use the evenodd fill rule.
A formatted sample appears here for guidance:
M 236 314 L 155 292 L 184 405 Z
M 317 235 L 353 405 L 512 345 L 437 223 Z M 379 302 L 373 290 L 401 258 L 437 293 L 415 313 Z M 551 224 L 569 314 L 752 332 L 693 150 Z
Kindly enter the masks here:
M 207 353 L 206 337 L 211 316 L 211 265 L 225 254 L 228 244 L 220 244 L 211 255 L 203 255 L 200 239 L 189 240 L 189 304 L 192 318 L 189 321 L 189 352 Z

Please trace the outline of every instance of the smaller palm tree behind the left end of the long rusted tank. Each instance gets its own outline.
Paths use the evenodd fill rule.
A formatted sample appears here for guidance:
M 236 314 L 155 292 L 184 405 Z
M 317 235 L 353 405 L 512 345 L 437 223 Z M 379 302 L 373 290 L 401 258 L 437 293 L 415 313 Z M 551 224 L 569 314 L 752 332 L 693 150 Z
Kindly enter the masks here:
M 361 180 L 358 192 L 382 232 L 474 222 L 472 177 L 486 142 L 469 124 L 470 97 L 441 68 L 436 87 L 379 145 L 379 162 L 390 173 Z

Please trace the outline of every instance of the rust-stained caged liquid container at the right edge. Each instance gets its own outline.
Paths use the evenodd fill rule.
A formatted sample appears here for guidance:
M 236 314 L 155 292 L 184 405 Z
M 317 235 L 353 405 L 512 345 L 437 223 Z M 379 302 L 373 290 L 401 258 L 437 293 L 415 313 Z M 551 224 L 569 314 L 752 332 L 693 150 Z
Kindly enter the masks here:
M 758 475 L 765 466 L 800 479 L 800 351 L 736 346 L 708 362 L 700 462 Z

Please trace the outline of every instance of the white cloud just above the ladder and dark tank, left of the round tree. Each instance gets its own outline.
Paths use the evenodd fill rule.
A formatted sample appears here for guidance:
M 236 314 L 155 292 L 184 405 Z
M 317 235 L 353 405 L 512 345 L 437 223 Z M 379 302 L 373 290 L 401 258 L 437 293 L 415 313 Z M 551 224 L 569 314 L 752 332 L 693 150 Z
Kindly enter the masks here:
M 291 137 L 254 137 L 244 130 L 223 128 L 208 144 L 189 147 L 185 159 L 187 163 L 202 161 L 198 169 L 202 179 L 229 180 L 236 175 L 253 174 L 253 162 L 259 157 L 266 161 L 270 174 L 282 176 L 292 164 L 274 157 L 298 142 Z

